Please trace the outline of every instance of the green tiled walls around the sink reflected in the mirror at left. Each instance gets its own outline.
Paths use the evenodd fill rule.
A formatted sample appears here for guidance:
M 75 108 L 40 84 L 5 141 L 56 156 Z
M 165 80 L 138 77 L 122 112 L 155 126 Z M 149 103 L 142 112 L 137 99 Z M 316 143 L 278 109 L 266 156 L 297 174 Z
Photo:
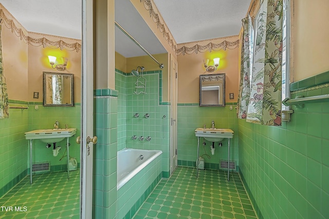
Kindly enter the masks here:
M 80 105 L 75 107 L 43 107 L 42 103 L 10 100 L 10 106 L 27 106 L 28 109 L 10 109 L 9 118 L 0 120 L 0 196 L 19 183 L 29 174 L 29 145 L 24 133 L 35 129 L 53 128 L 56 120 L 60 128 L 64 124 L 77 128 L 80 135 Z M 38 110 L 35 109 L 38 106 Z M 70 139 L 70 156 L 80 163 L 80 146 Z M 62 150 L 58 156 L 52 155 L 51 148 L 38 140 L 33 141 L 33 163 L 50 162 L 51 171 L 66 169 L 65 143 L 58 144 Z M 64 156 L 62 161 L 60 158 Z

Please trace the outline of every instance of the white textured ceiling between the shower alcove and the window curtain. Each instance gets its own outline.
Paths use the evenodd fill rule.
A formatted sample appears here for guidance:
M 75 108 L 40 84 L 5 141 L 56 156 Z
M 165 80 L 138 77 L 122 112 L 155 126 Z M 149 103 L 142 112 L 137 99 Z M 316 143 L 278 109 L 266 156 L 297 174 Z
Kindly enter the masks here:
M 238 35 L 251 0 L 153 0 L 177 44 Z

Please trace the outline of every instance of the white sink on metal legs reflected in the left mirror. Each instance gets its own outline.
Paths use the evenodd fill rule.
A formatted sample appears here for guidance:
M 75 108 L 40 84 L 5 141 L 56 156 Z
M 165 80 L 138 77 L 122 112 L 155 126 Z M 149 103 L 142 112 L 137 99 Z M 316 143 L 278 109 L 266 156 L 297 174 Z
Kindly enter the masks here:
M 25 138 L 30 143 L 30 184 L 32 184 L 32 141 L 38 139 L 46 144 L 61 142 L 66 138 L 66 150 L 67 150 L 67 179 L 69 176 L 69 152 L 68 152 L 68 140 L 69 137 L 77 133 L 76 128 L 70 129 L 38 129 L 29 132 L 25 132 Z

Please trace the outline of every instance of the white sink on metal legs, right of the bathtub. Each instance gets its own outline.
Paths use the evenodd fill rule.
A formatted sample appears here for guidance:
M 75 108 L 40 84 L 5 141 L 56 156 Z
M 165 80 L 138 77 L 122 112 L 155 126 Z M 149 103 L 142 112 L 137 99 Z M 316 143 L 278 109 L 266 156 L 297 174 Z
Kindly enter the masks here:
M 197 136 L 197 161 L 199 160 L 199 144 L 200 137 L 204 137 L 209 142 L 221 142 L 224 138 L 228 139 L 228 157 L 227 157 L 227 181 L 230 180 L 230 139 L 233 138 L 231 129 L 216 129 L 216 128 L 197 128 L 194 131 Z M 196 164 L 196 177 L 198 176 L 198 164 Z

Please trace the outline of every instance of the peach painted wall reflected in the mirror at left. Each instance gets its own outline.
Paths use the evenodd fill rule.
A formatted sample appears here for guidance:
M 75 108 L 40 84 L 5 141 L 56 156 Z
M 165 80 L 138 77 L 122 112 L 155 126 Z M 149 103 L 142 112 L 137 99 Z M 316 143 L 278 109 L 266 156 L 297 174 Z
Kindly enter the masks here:
M 6 9 L 8 19 L 13 19 L 17 28 L 32 38 L 46 37 L 50 41 L 62 39 L 67 43 L 80 43 L 80 40 L 27 32 Z M 77 52 L 66 49 L 32 46 L 16 36 L 6 25 L 2 25 L 2 46 L 4 59 L 4 74 L 7 81 L 9 99 L 43 102 L 43 72 L 59 72 L 75 74 L 75 102 L 81 103 L 81 50 Z M 68 58 L 67 70 L 52 69 L 47 55 L 65 56 Z M 39 92 L 39 98 L 33 98 L 33 92 Z

